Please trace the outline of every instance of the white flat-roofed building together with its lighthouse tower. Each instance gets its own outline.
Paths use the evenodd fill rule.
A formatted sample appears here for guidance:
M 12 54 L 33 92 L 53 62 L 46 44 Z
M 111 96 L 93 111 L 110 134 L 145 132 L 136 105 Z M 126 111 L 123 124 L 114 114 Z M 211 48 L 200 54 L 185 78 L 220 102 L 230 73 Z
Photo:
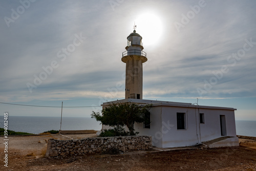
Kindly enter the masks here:
M 139 135 L 151 135 L 152 144 L 157 147 L 191 146 L 220 137 L 226 139 L 219 141 L 216 147 L 238 146 L 234 120 L 236 109 L 142 99 L 142 63 L 147 58 L 142 51 L 141 39 L 135 30 L 127 37 L 127 51 L 122 57 L 126 63 L 125 99 L 105 102 L 102 107 L 125 102 L 153 104 L 148 116 L 151 123 L 135 123 L 134 128 Z M 109 129 L 109 126 L 102 125 L 104 129 Z

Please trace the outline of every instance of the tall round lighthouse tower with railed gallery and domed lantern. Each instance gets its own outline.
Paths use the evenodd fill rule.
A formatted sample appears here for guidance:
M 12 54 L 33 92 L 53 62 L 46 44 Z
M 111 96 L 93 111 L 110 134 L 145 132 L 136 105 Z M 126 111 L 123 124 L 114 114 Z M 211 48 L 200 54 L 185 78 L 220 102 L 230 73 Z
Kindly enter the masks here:
M 126 51 L 122 54 L 122 61 L 126 63 L 125 99 L 142 99 L 142 63 L 147 61 L 147 58 L 146 53 L 142 51 L 144 48 L 141 40 L 142 37 L 134 29 L 127 37 Z

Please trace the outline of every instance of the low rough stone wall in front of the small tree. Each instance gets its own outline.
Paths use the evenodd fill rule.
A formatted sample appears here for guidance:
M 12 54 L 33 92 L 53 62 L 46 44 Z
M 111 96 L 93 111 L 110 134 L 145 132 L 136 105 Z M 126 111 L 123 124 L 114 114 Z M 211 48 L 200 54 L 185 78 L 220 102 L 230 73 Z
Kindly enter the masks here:
M 148 149 L 152 147 L 151 136 L 96 137 L 80 140 L 49 139 L 46 157 L 60 158 L 103 153 L 117 147 L 121 152 Z

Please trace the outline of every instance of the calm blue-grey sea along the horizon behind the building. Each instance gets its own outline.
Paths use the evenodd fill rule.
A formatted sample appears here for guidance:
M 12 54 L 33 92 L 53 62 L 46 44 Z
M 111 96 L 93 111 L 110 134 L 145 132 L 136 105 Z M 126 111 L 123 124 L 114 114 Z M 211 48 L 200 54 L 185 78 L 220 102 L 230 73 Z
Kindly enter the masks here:
M 60 130 L 60 117 L 8 116 L 8 129 L 16 132 L 39 134 Z M 4 116 L 0 117 L 4 127 Z M 101 130 L 100 122 L 90 117 L 62 117 L 61 130 Z M 256 137 L 256 121 L 236 120 L 237 135 Z

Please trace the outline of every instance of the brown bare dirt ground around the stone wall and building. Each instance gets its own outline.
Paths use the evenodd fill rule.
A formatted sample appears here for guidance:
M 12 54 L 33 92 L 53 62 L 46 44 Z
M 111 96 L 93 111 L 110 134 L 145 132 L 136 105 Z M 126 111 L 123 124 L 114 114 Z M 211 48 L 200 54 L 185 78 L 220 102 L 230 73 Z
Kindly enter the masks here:
M 256 141 L 239 139 L 239 147 L 95 154 L 47 159 L 46 140 L 95 137 L 83 135 L 13 136 L 8 141 L 8 167 L 0 144 L 1 170 L 247 170 L 256 171 Z M 4 137 L 1 137 L 3 140 Z

